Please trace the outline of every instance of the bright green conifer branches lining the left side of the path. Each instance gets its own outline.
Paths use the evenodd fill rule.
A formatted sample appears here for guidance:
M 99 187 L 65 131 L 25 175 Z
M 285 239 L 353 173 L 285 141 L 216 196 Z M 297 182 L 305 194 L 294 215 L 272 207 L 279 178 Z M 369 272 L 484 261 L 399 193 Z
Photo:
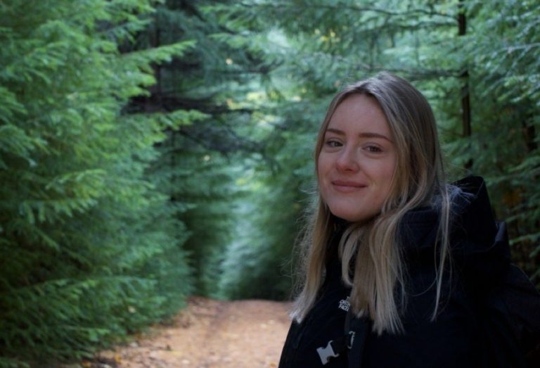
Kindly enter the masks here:
M 122 113 L 154 63 L 133 53 L 151 1 L 0 5 L 1 364 L 89 356 L 176 312 L 191 292 L 188 231 L 148 173 L 154 148 L 196 112 Z

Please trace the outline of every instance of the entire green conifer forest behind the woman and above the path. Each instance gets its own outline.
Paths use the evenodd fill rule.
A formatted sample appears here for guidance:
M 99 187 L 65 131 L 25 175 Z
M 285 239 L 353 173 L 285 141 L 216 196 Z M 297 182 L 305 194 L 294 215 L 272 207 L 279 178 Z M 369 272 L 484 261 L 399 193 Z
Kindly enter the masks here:
M 0 367 L 91 355 L 186 297 L 288 298 L 348 82 L 435 109 L 540 283 L 540 3 L 0 1 Z

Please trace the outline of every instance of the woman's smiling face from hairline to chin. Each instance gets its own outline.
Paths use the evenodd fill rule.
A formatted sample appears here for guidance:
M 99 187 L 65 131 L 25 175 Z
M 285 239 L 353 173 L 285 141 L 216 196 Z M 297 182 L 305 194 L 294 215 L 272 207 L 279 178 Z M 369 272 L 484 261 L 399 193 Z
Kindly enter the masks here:
M 378 102 L 353 94 L 335 109 L 319 153 L 323 201 L 333 215 L 364 222 L 380 213 L 390 193 L 397 152 Z

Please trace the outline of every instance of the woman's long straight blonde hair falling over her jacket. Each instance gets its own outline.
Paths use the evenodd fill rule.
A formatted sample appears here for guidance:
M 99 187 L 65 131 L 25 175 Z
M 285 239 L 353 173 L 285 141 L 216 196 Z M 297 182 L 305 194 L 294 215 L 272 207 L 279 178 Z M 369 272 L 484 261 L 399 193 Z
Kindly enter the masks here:
M 406 212 L 423 205 L 432 205 L 437 198 L 441 211 L 437 244 L 437 294 L 432 319 L 437 316 L 444 265 L 449 261 L 450 193 L 444 177 L 444 165 L 437 137 L 437 126 L 425 97 L 406 80 L 381 73 L 356 82 L 340 91 L 331 101 L 319 130 L 315 147 L 315 165 L 323 146 L 330 118 L 342 101 L 353 94 L 366 94 L 378 102 L 385 113 L 397 149 L 397 163 L 391 189 L 379 215 L 368 223 L 348 224 L 339 243 L 342 279 L 352 286 L 351 306 L 356 315 L 373 319 L 373 329 L 397 333 L 402 331 L 397 298 L 406 303 L 403 257 L 400 252 L 399 223 Z M 317 171 L 317 170 L 316 170 Z M 320 194 L 300 241 L 300 294 L 292 317 L 302 321 L 323 282 L 327 245 L 342 220 L 330 213 Z M 437 251 L 434 253 L 437 254 Z M 351 267 L 354 265 L 354 277 Z

